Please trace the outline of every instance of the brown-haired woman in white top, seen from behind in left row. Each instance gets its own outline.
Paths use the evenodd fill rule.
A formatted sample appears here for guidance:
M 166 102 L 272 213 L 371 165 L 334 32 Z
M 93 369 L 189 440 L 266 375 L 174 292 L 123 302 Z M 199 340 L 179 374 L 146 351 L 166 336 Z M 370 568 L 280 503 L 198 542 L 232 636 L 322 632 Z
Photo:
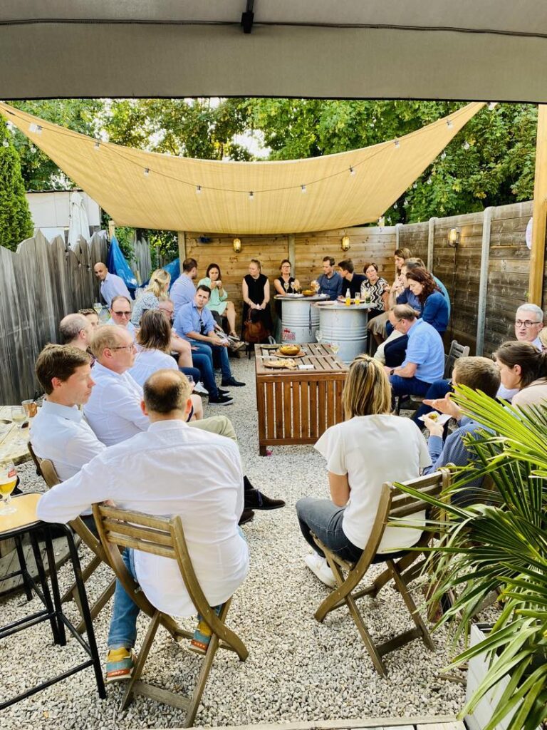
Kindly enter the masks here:
M 176 360 L 171 352 L 171 326 L 166 316 L 160 310 L 147 310 L 141 318 L 141 328 L 136 336 L 139 350 L 129 374 L 139 385 L 144 385 L 156 370 L 178 370 Z M 189 420 L 203 418 L 203 405 L 200 396 L 194 393 L 192 399 L 193 413 Z

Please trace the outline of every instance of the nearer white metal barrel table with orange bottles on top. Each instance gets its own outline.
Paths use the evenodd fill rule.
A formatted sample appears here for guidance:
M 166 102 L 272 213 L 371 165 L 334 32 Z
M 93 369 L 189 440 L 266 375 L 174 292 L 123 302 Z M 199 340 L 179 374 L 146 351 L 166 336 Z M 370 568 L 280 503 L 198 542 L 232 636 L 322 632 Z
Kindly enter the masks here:
M 322 342 L 338 342 L 338 357 L 344 363 L 351 363 L 357 355 L 367 350 L 368 310 L 366 304 L 346 304 L 334 302 L 315 306 L 319 310 L 319 328 Z

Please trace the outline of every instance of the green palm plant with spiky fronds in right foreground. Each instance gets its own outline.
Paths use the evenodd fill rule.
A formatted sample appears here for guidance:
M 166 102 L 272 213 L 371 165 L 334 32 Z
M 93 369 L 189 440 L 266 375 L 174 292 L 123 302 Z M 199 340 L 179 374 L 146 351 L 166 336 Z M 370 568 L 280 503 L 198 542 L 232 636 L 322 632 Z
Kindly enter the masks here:
M 547 719 L 547 404 L 518 410 L 465 386 L 456 391 L 459 407 L 485 431 L 468 437 L 476 461 L 457 470 L 450 491 L 465 490 L 477 472 L 492 488 L 468 507 L 458 506 L 455 494 L 448 504 L 424 497 L 446 515 L 430 526 L 443 534 L 429 561 L 438 586 L 433 600 L 448 591 L 456 596 L 438 625 L 452 619 L 456 636 L 467 637 L 473 616 L 497 593 L 494 626 L 451 665 L 486 660 L 486 676 L 460 714 L 496 691 L 484 730 L 502 721 L 508 730 L 535 730 Z

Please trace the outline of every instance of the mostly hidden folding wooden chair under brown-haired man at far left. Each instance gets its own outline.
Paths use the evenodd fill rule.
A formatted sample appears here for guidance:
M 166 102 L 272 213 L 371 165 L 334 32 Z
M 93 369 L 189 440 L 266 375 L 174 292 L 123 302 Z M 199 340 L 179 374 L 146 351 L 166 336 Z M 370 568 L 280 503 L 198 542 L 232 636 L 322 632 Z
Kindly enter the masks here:
M 59 484 L 61 480 L 58 477 L 57 472 L 55 471 L 55 466 L 53 466 L 53 462 L 50 461 L 50 459 L 47 458 L 39 458 L 39 456 L 36 456 L 36 453 L 34 453 L 34 449 L 32 447 L 31 442 L 28 442 L 28 451 L 31 454 L 34 464 L 36 464 L 36 472 L 39 475 L 42 475 L 42 478 L 44 479 L 44 482 L 47 484 L 48 488 L 54 487 L 56 484 Z M 99 565 L 101 563 L 106 563 L 107 565 L 109 562 L 106 560 L 106 555 L 104 553 L 104 550 L 102 548 L 101 542 L 98 541 L 98 539 L 95 537 L 93 532 L 90 531 L 88 526 L 85 524 L 85 522 L 82 520 L 82 518 L 77 517 L 75 520 L 72 520 L 70 523 L 71 528 L 74 530 L 74 532 L 82 539 L 83 542 L 85 542 L 85 545 L 88 546 L 88 548 L 93 553 L 93 558 L 90 560 L 87 566 L 85 566 L 84 569 L 82 569 L 82 580 L 84 583 L 87 583 L 89 578 L 93 575 L 93 573 L 96 571 Z M 104 606 L 109 602 L 109 599 L 114 594 L 116 588 L 116 580 L 113 578 L 110 583 L 107 585 L 105 590 L 101 593 L 101 595 L 98 597 L 96 602 L 92 605 L 90 605 L 90 613 L 91 613 L 91 619 L 92 621 L 96 618 L 96 616 L 103 610 Z M 79 604 L 79 594 L 78 594 L 78 588 L 76 583 L 73 583 L 71 587 L 69 588 L 66 593 L 64 593 L 63 597 L 61 598 L 61 604 L 74 601 L 77 604 L 79 614 L 82 616 L 82 607 Z M 82 616 L 82 621 L 79 622 L 78 626 L 76 627 L 76 630 L 79 634 L 82 634 L 83 631 L 85 631 L 85 623 Z

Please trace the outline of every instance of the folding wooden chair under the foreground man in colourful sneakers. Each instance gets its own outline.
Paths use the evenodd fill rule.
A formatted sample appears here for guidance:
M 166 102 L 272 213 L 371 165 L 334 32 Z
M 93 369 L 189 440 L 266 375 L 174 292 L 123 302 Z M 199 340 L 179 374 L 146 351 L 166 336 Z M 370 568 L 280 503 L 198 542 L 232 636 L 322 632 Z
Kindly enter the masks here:
M 218 617 L 214 610 L 209 607 L 209 603 L 201 590 L 192 566 L 182 529 L 182 520 L 179 516 L 171 519 L 152 517 L 151 515 L 143 515 L 141 512 L 130 512 L 128 510 L 119 510 L 117 507 L 106 507 L 104 504 L 94 504 L 93 514 L 95 515 L 101 544 L 117 579 L 120 580 L 125 591 L 127 591 L 128 595 L 131 596 L 141 611 L 150 616 L 151 619 L 146 637 L 141 645 L 139 658 L 133 669 L 133 675 L 131 675 L 131 680 L 127 683 L 120 709 L 125 710 L 131 704 L 134 693 L 144 694 L 156 701 L 166 702 L 173 707 L 186 710 L 184 727 L 191 727 L 196 712 L 198 712 L 201 696 L 203 695 L 203 690 L 207 677 L 209 677 L 217 649 L 221 648 L 235 651 L 241 661 L 245 661 L 247 656 L 249 656 L 249 652 L 241 639 L 225 626 L 225 619 L 228 614 L 231 599 L 228 599 L 222 605 Z M 138 583 L 136 583 L 133 576 L 125 567 L 118 548 L 133 548 L 134 550 L 141 550 L 144 553 L 152 553 L 152 555 L 176 560 L 179 565 L 182 580 L 184 580 L 186 590 L 195 609 L 201 614 L 203 620 L 212 631 L 209 648 L 207 648 L 203 657 L 201 671 L 191 697 L 183 697 L 174 692 L 145 684 L 140 680 L 144 664 L 147 661 L 148 653 L 150 652 L 156 631 L 158 631 L 160 625 L 164 626 L 174 639 L 177 640 L 191 639 L 193 634 L 190 631 L 182 629 L 171 616 L 152 606 Z

